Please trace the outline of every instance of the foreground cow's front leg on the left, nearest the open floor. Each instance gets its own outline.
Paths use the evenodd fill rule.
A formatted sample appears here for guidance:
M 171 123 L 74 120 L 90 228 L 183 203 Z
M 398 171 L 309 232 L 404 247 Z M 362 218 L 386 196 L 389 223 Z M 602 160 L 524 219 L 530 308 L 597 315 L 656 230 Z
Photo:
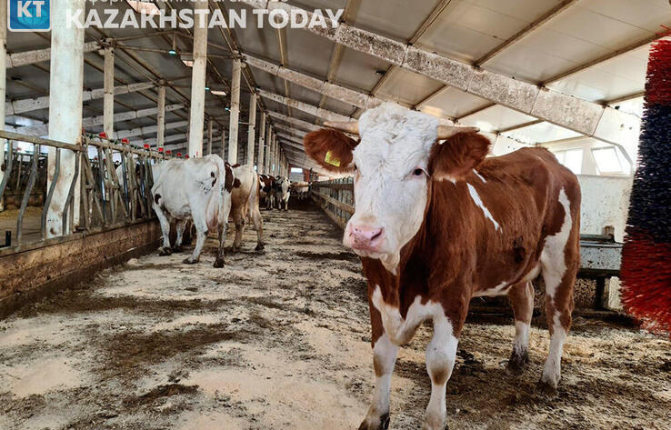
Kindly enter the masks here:
M 375 306 L 370 305 L 370 320 L 373 329 L 373 368 L 376 373 L 376 388 L 368 407 L 366 419 L 359 430 L 385 430 L 389 427 L 389 396 L 391 376 L 396 364 L 398 346 L 391 343 L 382 326 L 382 318 Z

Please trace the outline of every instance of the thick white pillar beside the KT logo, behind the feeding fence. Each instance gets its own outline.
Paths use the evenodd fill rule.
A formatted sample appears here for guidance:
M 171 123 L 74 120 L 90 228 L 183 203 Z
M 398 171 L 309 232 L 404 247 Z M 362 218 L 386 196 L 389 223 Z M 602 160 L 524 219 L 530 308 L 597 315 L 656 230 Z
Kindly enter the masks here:
M 57 0 L 51 8 L 51 67 L 49 74 L 49 138 L 68 144 L 82 140 L 82 87 L 84 86 L 84 28 L 67 25 L 68 17 L 85 10 L 85 0 Z M 75 152 L 61 152 L 60 173 L 46 212 L 46 236 L 68 232 L 63 210 L 75 177 Z M 47 179 L 54 178 L 55 148 L 49 149 Z M 47 185 L 48 186 L 48 185 Z M 47 188 L 48 189 L 48 188 Z M 79 224 L 79 193 L 75 186 L 74 225 Z M 68 219 L 71 219 L 68 217 Z

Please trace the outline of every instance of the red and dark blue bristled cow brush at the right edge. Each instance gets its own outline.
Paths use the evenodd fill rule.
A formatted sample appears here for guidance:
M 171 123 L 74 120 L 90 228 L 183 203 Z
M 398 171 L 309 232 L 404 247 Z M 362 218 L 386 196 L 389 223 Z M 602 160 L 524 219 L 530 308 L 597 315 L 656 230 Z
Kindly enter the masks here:
M 671 331 L 671 41 L 650 51 L 626 226 L 622 301 L 652 330 Z

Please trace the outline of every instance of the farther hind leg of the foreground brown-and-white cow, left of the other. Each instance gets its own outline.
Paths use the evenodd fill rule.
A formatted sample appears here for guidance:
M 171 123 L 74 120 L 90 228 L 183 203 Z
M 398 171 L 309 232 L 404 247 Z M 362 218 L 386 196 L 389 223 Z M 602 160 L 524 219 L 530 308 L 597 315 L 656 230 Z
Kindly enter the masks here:
M 529 330 L 534 314 L 534 285 L 521 282 L 508 291 L 508 300 L 515 314 L 515 344 L 506 370 L 513 375 L 521 375 L 529 362 Z

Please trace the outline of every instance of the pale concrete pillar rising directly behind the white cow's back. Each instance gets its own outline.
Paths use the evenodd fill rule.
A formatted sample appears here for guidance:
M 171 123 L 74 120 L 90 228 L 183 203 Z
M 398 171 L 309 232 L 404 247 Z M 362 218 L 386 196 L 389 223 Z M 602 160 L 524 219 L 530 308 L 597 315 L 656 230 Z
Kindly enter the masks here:
M 203 125 L 205 123 L 205 71 L 207 68 L 207 0 L 196 0 L 194 9 L 194 66 L 191 70 L 191 109 L 189 118 L 189 156 L 203 156 Z M 198 16 L 204 19 L 198 19 Z

